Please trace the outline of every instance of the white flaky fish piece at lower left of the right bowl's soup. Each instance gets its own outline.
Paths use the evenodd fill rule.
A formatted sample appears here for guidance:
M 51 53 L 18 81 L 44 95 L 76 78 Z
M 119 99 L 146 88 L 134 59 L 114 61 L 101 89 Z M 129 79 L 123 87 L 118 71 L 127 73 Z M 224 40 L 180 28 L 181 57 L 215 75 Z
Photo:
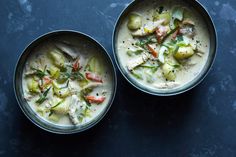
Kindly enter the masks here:
M 145 63 L 150 58 L 150 54 L 147 52 L 142 53 L 135 59 L 132 59 L 128 62 L 127 68 L 128 70 L 133 70 L 135 67 Z

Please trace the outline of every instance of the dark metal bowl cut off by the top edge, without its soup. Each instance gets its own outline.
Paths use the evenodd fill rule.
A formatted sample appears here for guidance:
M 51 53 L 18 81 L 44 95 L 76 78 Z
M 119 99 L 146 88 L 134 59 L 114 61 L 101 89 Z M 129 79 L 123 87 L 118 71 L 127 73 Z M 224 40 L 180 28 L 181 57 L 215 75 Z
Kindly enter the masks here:
M 161 5 L 161 3 L 163 3 L 161 0 L 153 0 L 154 2 L 159 2 L 159 4 Z M 176 89 L 169 89 L 169 90 L 152 90 L 150 88 L 147 88 L 143 85 L 138 84 L 136 81 L 134 81 L 130 74 L 126 72 L 125 67 L 123 67 L 121 65 L 121 63 L 119 62 L 118 56 L 117 56 L 117 47 L 116 47 L 116 42 L 117 42 L 117 34 L 118 31 L 120 29 L 120 26 L 122 24 L 122 22 L 125 20 L 125 18 L 127 18 L 128 14 L 132 11 L 135 11 L 135 8 L 142 3 L 142 5 L 145 5 L 145 3 L 150 2 L 149 0 L 135 0 L 133 2 L 131 2 L 120 14 L 116 25 L 115 25 L 115 29 L 113 32 L 113 37 L 112 37 L 112 48 L 113 48 L 113 55 L 116 61 L 116 64 L 119 68 L 119 70 L 121 71 L 122 75 L 126 78 L 126 80 L 132 84 L 134 87 L 136 87 L 137 89 L 148 93 L 148 94 L 152 94 L 152 95 L 157 95 L 157 96 L 171 96 L 171 95 L 177 95 L 177 94 L 181 94 L 184 93 L 192 88 L 194 88 L 195 86 L 197 86 L 199 83 L 201 83 L 203 81 L 203 79 L 207 76 L 209 70 L 211 69 L 215 57 L 216 57 L 216 50 L 217 50 L 217 34 L 216 34 L 216 30 L 215 30 L 215 26 L 214 23 L 212 21 L 211 16 L 209 15 L 209 13 L 207 12 L 207 10 L 204 8 L 204 6 L 199 3 L 196 0 L 179 0 L 180 2 L 185 2 L 187 5 L 189 5 L 189 7 L 191 9 L 196 10 L 200 15 L 201 18 L 203 19 L 203 21 L 206 23 L 207 27 L 206 29 L 208 29 L 209 35 L 210 35 L 210 51 L 209 51 L 209 56 L 208 56 L 208 60 L 207 63 L 205 64 L 203 70 L 201 71 L 201 73 L 191 82 L 187 83 L 186 85 L 176 88 Z

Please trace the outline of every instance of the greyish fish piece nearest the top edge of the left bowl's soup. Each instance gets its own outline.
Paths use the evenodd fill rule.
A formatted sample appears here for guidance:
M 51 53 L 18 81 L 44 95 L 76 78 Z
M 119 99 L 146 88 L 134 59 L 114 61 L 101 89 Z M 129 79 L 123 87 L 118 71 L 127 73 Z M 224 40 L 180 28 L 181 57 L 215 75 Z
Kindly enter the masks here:
M 61 50 L 62 52 L 64 52 L 65 54 L 67 54 L 68 56 L 70 56 L 73 59 L 78 58 L 78 51 L 76 50 L 76 48 L 72 45 L 69 45 L 67 43 L 64 42 L 55 42 L 55 46 Z

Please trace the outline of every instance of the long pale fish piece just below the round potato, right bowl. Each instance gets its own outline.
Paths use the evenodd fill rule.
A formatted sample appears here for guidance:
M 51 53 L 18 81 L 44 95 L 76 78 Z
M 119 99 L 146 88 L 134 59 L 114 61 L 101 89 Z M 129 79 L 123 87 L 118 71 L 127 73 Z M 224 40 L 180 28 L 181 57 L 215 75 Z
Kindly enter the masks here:
M 152 34 L 158 26 L 163 24 L 165 22 L 165 19 L 160 19 L 157 21 L 149 21 L 147 24 L 145 24 L 143 27 L 138 29 L 137 31 L 132 32 L 132 36 L 142 37 L 146 36 L 148 34 Z

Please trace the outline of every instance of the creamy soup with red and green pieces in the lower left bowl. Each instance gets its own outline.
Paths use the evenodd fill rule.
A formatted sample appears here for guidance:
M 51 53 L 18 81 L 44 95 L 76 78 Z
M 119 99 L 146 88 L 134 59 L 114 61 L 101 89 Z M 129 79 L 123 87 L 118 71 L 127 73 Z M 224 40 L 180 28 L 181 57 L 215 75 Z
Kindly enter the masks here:
M 24 97 L 42 118 L 82 125 L 105 110 L 113 82 L 99 50 L 60 39 L 40 44 L 31 54 L 22 76 Z

